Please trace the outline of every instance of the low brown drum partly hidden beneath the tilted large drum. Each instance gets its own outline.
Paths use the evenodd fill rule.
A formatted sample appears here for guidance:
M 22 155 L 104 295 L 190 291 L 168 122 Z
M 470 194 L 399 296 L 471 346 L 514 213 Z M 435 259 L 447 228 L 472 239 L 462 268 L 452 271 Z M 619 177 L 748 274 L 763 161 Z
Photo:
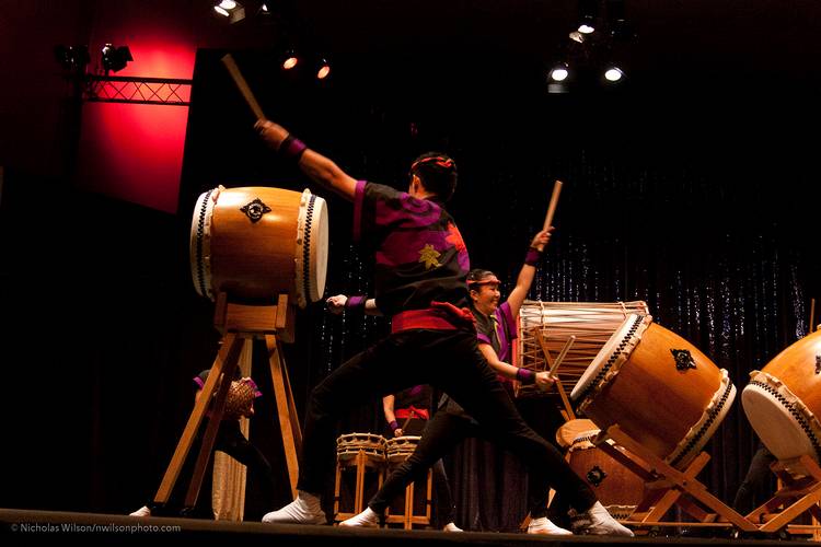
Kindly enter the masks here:
M 645 496 L 645 484 L 618 461 L 597 447 L 591 441 L 599 434 L 594 429 L 577 437 L 568 450 L 568 464 L 595 492 L 602 505 L 614 519 L 627 519 Z M 608 439 L 618 451 L 621 446 Z

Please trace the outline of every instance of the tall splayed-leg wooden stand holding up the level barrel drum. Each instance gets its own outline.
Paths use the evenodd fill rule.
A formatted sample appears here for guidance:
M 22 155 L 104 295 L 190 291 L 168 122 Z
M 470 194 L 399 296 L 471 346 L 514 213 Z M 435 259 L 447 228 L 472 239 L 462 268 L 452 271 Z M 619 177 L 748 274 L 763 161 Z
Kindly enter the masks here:
M 302 447 L 302 431 L 293 404 L 288 371 L 285 368 L 279 346 L 280 341 L 293 341 L 294 310 L 288 305 L 288 296 L 284 294 L 279 296 L 277 305 L 252 306 L 231 303 L 228 295 L 221 292 L 217 298 L 213 323 L 217 329 L 222 333 L 222 345 L 203 387 L 203 393 L 194 405 L 194 410 L 192 410 L 185 430 L 171 458 L 171 463 L 165 470 L 165 475 L 154 497 L 154 503 L 162 505 L 169 501 L 188 451 L 194 443 L 203 418 L 216 392 L 217 395 L 210 408 L 208 427 L 203 438 L 194 475 L 185 497 L 185 508 L 195 507 L 197 497 L 199 496 L 199 488 L 203 485 L 203 477 L 208 466 L 208 459 L 211 456 L 213 443 L 217 439 L 217 431 L 224 411 L 226 397 L 231 385 L 231 380 L 240 359 L 251 360 L 251 347 L 253 340 L 257 338 L 265 339 L 268 350 L 268 363 L 274 383 L 274 396 L 277 400 L 277 412 L 282 433 L 288 476 L 291 484 L 291 493 L 296 498 L 297 478 L 299 476 L 297 455 Z M 243 369 L 250 371 L 251 363 L 246 363 Z M 226 379 L 226 381 L 220 382 L 220 379 Z

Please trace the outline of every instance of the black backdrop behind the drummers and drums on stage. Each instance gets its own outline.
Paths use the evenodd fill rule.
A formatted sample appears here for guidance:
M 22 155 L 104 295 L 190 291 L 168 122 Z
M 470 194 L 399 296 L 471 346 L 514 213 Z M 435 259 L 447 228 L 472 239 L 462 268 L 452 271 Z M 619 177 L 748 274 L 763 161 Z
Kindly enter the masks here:
M 226 51 L 270 118 L 354 176 L 404 188 L 419 152 L 450 153 L 460 170 L 450 209 L 472 264 L 495 270 L 506 291 L 559 178 L 557 230 L 531 298 L 646 300 L 739 392 L 750 370 L 808 333 L 809 301 L 821 294 L 819 74 L 805 62 L 818 48 L 809 37 L 819 18 L 809 3 L 705 3 L 686 13 L 634 4 L 638 70 L 616 91 L 566 95 L 545 93 L 544 47 L 535 46 L 559 42 L 569 2 L 539 16 L 528 2 L 439 11 L 421 2 L 412 14 L 309 4 L 298 10 L 303 42 L 336 54 L 324 85 L 270 68 L 280 36 L 265 44 L 258 32 L 247 40 L 258 43 L 226 47 L 226 38 L 199 50 L 176 214 L 76 190 L 69 137 L 46 154 L 65 164 L 37 167 L 44 151 L 35 146 L 4 154 L 0 505 L 124 513 L 144 503 L 190 410 L 190 377 L 210 366 L 219 339 L 212 304 L 196 295 L 188 270 L 196 197 L 219 184 L 321 193 L 257 141 L 219 63 Z M 670 61 L 702 67 L 703 78 L 682 80 Z M 36 142 L 35 129 L 21 124 L 19 135 Z M 351 208 L 323 197 L 326 295 L 367 292 L 368 265 L 349 241 Z M 385 328 L 379 318 L 328 316 L 319 303 L 300 312 L 297 342 L 286 348 L 299 411 L 312 385 Z M 285 502 L 258 359 L 265 396 L 252 435 L 281 470 Z M 377 409 L 342 417 L 340 431 L 381 430 Z M 713 493 L 731 501 L 754 447 L 737 399 L 707 445 L 703 480 Z M 248 519 L 270 509 L 251 496 Z

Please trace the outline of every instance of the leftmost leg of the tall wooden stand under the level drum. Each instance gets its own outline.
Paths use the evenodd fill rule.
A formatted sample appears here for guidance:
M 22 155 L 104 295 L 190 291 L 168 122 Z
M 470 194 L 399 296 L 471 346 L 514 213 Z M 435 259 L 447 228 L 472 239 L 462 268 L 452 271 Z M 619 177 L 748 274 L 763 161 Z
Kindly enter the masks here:
M 188 417 L 188 422 L 185 426 L 183 435 L 180 438 L 180 442 L 176 445 L 171 463 L 169 464 L 162 482 L 160 484 L 160 488 L 154 496 L 154 503 L 165 504 L 167 503 L 169 498 L 171 498 L 171 491 L 180 477 L 180 472 L 183 468 L 185 458 L 188 456 L 188 451 L 190 450 L 197 430 L 199 430 L 199 426 L 203 422 L 203 418 L 205 417 L 208 403 L 213 395 L 217 382 L 224 370 L 231 369 L 230 372 L 233 373 L 233 366 L 236 364 L 236 359 L 240 354 L 241 348 L 242 340 L 236 334 L 229 333 L 223 337 L 222 347 L 211 366 L 208 380 L 206 380 L 205 386 L 203 386 L 203 393 L 194 405 L 194 410 L 192 410 L 192 414 Z

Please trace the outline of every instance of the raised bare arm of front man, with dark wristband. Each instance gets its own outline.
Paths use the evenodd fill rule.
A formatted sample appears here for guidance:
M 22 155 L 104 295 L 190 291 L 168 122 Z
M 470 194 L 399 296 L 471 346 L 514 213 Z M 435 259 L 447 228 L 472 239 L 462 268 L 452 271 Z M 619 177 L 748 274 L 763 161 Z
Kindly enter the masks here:
M 331 159 L 314 152 L 290 135 L 282 126 L 268 119 L 258 120 L 254 127 L 259 136 L 279 155 L 297 161 L 299 168 L 316 184 L 335 191 L 352 201 L 356 193 L 356 178 L 345 173 Z

